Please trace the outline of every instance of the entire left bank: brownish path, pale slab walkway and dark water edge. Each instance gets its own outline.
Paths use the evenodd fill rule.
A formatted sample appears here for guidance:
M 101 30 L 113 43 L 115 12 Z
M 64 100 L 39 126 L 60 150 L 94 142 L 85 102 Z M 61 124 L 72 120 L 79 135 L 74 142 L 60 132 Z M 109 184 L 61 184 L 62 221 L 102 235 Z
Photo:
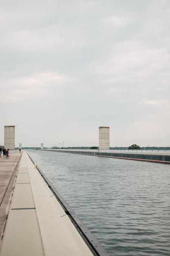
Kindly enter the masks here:
M 0 256 L 108 256 L 26 151 L 0 158 Z

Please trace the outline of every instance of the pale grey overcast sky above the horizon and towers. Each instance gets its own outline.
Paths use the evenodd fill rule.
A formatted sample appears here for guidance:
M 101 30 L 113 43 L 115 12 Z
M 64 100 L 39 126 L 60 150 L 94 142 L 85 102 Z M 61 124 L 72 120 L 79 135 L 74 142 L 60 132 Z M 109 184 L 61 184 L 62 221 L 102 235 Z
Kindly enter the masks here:
M 2 0 L 0 144 L 170 146 L 169 0 Z

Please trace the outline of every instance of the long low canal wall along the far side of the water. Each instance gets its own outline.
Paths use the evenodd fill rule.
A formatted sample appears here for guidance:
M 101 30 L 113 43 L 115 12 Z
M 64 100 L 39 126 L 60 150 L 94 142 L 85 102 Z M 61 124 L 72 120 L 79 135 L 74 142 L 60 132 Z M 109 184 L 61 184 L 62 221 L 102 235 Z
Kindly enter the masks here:
M 43 149 L 47 151 L 55 151 L 60 153 L 91 155 L 97 157 L 112 157 L 118 159 L 138 160 L 146 162 L 157 162 L 162 164 L 170 164 L 170 154 L 166 153 L 133 153 L 133 152 L 110 152 L 100 150 L 68 150 L 68 149 Z

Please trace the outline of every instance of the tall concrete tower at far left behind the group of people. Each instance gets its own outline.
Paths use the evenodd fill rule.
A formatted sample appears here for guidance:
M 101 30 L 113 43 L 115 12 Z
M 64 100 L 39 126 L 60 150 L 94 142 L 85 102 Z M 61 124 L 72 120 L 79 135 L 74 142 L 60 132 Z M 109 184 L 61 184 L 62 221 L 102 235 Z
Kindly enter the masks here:
M 4 126 L 4 147 L 15 149 L 15 126 Z

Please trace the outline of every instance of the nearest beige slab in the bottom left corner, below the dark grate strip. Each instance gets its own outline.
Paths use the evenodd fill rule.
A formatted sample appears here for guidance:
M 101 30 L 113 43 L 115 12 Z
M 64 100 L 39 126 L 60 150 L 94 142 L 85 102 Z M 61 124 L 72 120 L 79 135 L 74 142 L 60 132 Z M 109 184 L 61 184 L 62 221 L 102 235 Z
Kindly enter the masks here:
M 10 210 L 0 256 L 44 256 L 35 209 Z

